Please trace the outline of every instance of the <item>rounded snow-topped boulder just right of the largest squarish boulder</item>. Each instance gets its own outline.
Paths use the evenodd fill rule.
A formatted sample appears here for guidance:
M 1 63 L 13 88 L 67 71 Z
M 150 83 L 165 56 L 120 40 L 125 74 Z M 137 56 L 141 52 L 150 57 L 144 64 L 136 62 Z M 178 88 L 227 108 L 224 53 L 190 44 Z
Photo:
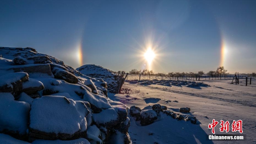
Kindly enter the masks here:
M 98 114 L 92 114 L 92 120 L 99 126 L 111 128 L 119 123 L 119 116 L 115 109 L 109 108 Z

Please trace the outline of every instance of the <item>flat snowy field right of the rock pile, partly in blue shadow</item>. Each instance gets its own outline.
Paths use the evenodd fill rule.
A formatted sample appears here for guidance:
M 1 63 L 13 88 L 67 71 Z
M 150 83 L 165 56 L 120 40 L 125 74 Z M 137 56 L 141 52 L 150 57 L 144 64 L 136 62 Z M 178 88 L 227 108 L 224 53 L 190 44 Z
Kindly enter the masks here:
M 138 78 L 134 78 L 138 79 Z M 139 126 L 130 117 L 129 135 L 132 143 L 167 144 L 167 143 L 256 143 L 256 79 L 245 86 L 245 79 L 239 79 L 239 84 L 230 84 L 232 79 L 196 81 L 209 86 L 187 87 L 186 85 L 153 84 L 137 81 L 125 82 L 123 88 L 126 94 L 112 94 L 111 100 L 120 101 L 128 108 L 135 105 L 141 109 L 160 104 L 167 109 L 179 112 L 179 108 L 190 108 L 191 115 L 199 121 L 197 124 L 177 121 L 170 116 L 161 116 L 157 122 Z M 179 83 L 179 82 L 178 82 Z M 184 82 L 183 82 L 184 83 Z M 208 125 L 215 119 L 219 124 L 215 134 L 240 134 L 232 132 L 233 120 L 242 120 L 242 130 L 246 140 L 206 140 L 207 134 L 212 134 Z M 229 121 L 229 132 L 220 132 L 220 120 Z

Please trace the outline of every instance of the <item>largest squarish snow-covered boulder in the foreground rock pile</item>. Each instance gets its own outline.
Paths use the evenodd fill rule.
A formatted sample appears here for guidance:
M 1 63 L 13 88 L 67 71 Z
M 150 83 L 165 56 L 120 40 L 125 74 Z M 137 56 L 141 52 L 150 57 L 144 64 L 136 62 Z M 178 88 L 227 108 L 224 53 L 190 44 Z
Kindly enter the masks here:
M 62 96 L 36 98 L 30 110 L 30 137 L 72 140 L 86 137 L 88 108 L 82 101 Z

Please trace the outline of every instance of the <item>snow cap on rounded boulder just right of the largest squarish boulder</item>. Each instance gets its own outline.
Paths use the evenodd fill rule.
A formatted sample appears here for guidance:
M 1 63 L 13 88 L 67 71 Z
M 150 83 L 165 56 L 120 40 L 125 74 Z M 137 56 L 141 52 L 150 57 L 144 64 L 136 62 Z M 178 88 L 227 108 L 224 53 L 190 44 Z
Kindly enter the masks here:
M 99 124 L 106 124 L 111 121 L 116 121 L 117 118 L 118 114 L 113 108 L 102 110 L 98 114 L 92 114 L 93 121 Z

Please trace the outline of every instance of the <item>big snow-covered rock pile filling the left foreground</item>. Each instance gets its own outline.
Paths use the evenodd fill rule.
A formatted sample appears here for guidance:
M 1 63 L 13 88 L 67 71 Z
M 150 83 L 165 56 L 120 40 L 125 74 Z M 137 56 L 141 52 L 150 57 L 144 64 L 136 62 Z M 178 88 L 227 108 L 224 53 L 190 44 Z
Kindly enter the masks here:
M 33 48 L 0 55 L 0 143 L 131 143 L 128 108 L 104 80 Z

